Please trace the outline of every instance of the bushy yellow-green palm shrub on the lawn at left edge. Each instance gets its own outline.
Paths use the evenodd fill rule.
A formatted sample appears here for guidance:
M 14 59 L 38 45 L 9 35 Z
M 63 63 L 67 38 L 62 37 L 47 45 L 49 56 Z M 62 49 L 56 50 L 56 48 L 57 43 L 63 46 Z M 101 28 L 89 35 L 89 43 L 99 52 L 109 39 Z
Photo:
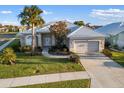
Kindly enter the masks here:
M 0 62 L 2 64 L 15 64 L 16 63 L 16 54 L 12 48 L 5 48 L 0 56 Z

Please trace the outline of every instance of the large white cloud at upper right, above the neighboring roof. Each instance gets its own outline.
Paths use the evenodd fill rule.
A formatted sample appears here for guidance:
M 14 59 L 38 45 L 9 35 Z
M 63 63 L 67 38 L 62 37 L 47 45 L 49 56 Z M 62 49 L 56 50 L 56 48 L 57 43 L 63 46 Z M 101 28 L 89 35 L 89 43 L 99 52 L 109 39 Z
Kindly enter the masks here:
M 124 21 L 124 10 L 120 9 L 107 9 L 107 10 L 97 10 L 93 9 L 90 13 L 93 18 L 98 18 L 103 21 L 116 22 Z

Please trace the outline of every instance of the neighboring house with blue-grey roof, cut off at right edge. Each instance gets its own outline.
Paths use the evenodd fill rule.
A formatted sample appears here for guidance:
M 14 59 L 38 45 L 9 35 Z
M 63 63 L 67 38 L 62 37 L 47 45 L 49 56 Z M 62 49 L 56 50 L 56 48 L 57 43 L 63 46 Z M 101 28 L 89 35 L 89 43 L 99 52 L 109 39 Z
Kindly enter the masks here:
M 124 48 L 124 23 L 117 22 L 111 23 L 95 30 L 106 36 L 106 41 L 111 45 L 118 45 L 120 48 Z

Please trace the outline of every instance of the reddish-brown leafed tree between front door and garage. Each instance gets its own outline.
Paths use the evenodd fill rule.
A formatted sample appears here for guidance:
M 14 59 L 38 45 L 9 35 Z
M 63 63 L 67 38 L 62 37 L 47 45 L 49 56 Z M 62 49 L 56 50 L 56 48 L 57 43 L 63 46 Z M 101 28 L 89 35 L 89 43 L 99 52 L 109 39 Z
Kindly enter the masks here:
M 61 47 L 64 45 L 64 40 L 66 39 L 68 29 L 65 22 L 58 21 L 55 24 L 51 25 L 49 30 L 55 36 L 56 46 Z

